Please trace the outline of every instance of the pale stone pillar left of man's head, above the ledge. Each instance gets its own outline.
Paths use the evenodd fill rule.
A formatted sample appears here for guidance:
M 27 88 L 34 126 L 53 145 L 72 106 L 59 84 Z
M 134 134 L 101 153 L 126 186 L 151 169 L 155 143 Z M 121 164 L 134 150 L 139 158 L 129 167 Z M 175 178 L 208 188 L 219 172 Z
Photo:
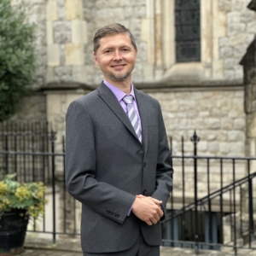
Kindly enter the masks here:
M 46 84 L 86 83 L 84 46 L 88 43 L 82 0 L 47 1 Z

